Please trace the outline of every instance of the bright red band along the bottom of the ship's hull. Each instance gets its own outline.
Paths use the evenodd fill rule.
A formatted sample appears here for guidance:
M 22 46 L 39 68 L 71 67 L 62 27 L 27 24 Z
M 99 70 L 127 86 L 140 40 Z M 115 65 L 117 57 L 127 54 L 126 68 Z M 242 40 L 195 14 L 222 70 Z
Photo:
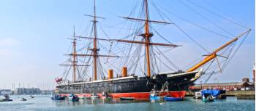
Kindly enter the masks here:
M 186 91 L 169 91 L 162 92 L 159 96 L 173 96 L 173 97 L 185 97 Z M 75 94 L 78 96 L 91 96 L 91 94 Z M 99 97 L 102 97 L 102 94 L 97 94 Z M 61 96 L 69 96 L 69 94 L 61 94 Z M 136 93 L 113 93 L 111 94 L 113 98 L 120 97 L 135 97 L 135 98 L 149 98 L 149 92 L 136 92 Z

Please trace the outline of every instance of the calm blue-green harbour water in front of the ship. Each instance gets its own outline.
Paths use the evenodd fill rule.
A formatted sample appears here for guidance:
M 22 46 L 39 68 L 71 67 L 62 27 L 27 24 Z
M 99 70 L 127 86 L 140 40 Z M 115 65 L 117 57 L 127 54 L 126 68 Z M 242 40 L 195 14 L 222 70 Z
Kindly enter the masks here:
M 227 97 L 224 100 L 215 102 L 202 102 L 200 99 L 186 97 L 181 102 L 152 102 L 146 99 L 134 101 L 120 101 L 119 99 L 82 99 L 79 102 L 70 101 L 52 101 L 49 95 L 35 96 L 29 99 L 29 96 L 10 96 L 13 102 L 0 102 L 0 111 L 253 111 L 255 110 L 255 100 L 236 99 L 236 97 Z M 25 97 L 28 100 L 21 102 L 20 98 Z

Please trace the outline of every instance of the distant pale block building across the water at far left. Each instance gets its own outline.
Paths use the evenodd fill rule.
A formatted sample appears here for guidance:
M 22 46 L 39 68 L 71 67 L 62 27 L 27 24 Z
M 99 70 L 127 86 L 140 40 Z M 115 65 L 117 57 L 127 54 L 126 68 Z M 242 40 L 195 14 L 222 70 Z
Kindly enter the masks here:
M 40 94 L 41 90 L 39 88 L 17 88 L 15 89 L 15 94 Z

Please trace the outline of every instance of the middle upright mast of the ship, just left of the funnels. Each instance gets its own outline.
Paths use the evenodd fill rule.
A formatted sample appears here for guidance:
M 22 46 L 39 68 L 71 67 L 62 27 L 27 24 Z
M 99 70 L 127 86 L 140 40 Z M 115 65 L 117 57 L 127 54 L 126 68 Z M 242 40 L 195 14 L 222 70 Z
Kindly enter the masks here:
M 96 27 L 96 6 L 95 6 L 95 0 L 94 0 L 94 49 L 93 54 L 94 54 L 94 81 L 97 81 L 97 27 Z

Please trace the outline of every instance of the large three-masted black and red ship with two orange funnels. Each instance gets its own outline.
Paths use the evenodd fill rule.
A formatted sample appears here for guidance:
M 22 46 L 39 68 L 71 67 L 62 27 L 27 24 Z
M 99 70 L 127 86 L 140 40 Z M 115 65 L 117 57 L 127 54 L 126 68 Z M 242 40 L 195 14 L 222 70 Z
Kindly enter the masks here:
M 250 32 L 249 29 L 238 36 L 234 36 L 234 38 L 227 41 L 224 45 L 212 52 L 208 52 L 208 54 L 204 55 L 203 59 L 200 61 L 194 62 L 194 65 L 190 66 L 187 70 L 170 70 L 167 72 L 161 72 L 162 67 L 158 67 L 157 65 L 165 65 L 165 62 L 170 61 L 166 60 L 169 58 L 169 55 L 165 55 L 160 52 L 161 49 L 159 48 L 176 48 L 180 45 L 172 44 L 171 42 L 154 42 L 152 39 L 154 38 L 154 33 L 151 31 L 154 29 L 151 27 L 151 24 L 168 25 L 174 23 L 151 20 L 148 11 L 148 0 L 143 0 L 141 3 L 143 3 L 141 5 L 141 14 L 143 15 L 141 15 L 140 18 L 123 17 L 129 22 L 140 22 L 140 24 L 143 24 L 141 28 L 138 28 L 135 33 L 131 34 L 134 35 L 134 38 L 131 40 L 98 37 L 98 19 L 105 18 L 97 16 L 94 1 L 94 14 L 86 15 L 87 17 L 92 18 L 91 36 L 76 36 L 74 28 L 74 33 L 71 38 L 72 53 L 66 55 L 69 57 L 69 60 L 67 60 L 69 63 L 65 62 L 64 64 L 61 64 L 67 67 L 68 73 L 72 73 L 72 81 L 67 79 L 67 72 L 65 72 L 64 77 L 56 78 L 56 93 L 83 94 L 89 96 L 92 93 L 102 95 L 102 92 L 106 92 L 111 94 L 113 97 L 146 98 L 150 95 L 150 91 L 159 91 L 162 89 L 163 84 L 168 83 L 168 94 L 176 97 L 184 97 L 189 86 L 194 85 L 197 79 L 206 75 L 206 70 L 211 66 L 211 63 L 217 62 L 218 64 L 216 67 L 219 69 L 219 72 L 222 72 L 222 67 L 227 65 L 229 59 L 232 58 L 230 55 L 232 52 L 235 52 L 233 51 L 233 46 L 235 46 L 234 44 L 236 44 L 236 41 L 238 41 L 242 36 L 248 35 Z M 157 33 L 157 35 L 159 35 L 159 33 Z M 84 53 L 79 53 L 77 50 L 78 40 L 89 41 L 89 44 L 84 45 L 85 48 L 82 49 Z M 110 43 L 110 46 L 112 47 L 113 42 L 128 44 L 129 48 L 123 49 L 124 53 L 122 55 L 110 52 L 108 54 L 101 54 L 99 41 Z M 134 46 L 137 47 L 132 49 Z M 159 57 L 157 57 L 158 55 L 154 53 L 155 50 L 157 50 L 157 53 L 161 54 L 165 59 L 159 59 Z M 225 62 L 219 62 L 218 57 L 225 59 Z M 83 60 L 80 58 L 83 58 Z M 121 62 L 110 61 L 110 59 L 115 58 L 121 58 Z M 160 62 L 157 62 L 156 58 L 158 58 Z M 102 59 L 107 59 L 105 62 L 111 63 L 112 67 L 116 67 L 117 70 L 102 69 L 104 65 L 108 64 L 102 63 Z M 139 66 L 141 64 L 139 62 L 141 61 L 143 62 L 143 67 Z M 223 63 L 223 65 L 220 65 L 221 63 Z M 203 69 L 203 66 L 206 65 L 206 69 Z M 168 67 L 168 65 L 165 66 Z M 138 68 L 141 70 L 140 73 L 138 73 L 139 71 L 135 71 L 138 70 Z M 213 71 L 211 73 L 216 72 Z

